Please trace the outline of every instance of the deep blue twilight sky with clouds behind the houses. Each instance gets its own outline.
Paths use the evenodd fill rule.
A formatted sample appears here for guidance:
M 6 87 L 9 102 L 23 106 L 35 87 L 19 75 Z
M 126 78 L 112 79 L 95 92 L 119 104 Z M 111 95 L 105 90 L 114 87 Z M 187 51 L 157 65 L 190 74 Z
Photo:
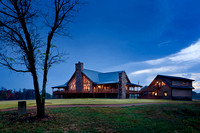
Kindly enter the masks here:
M 88 0 L 71 24 L 72 38 L 55 38 L 69 55 L 50 70 L 47 92 L 64 84 L 78 61 L 100 72 L 125 70 L 143 86 L 157 74 L 192 78 L 200 92 L 199 5 L 199 0 Z M 33 88 L 31 78 L 0 67 L 0 87 Z

